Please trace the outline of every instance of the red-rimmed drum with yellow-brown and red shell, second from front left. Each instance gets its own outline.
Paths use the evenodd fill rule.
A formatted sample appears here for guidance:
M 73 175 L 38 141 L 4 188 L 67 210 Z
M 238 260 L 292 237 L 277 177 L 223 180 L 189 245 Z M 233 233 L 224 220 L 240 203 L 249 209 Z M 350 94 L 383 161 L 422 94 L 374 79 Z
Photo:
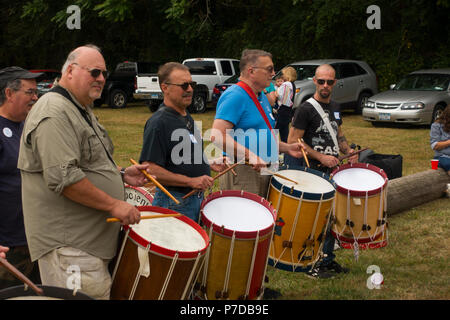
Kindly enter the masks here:
M 211 239 L 199 275 L 199 298 L 258 299 L 264 293 L 276 212 L 264 198 L 245 191 L 210 194 L 201 221 Z

